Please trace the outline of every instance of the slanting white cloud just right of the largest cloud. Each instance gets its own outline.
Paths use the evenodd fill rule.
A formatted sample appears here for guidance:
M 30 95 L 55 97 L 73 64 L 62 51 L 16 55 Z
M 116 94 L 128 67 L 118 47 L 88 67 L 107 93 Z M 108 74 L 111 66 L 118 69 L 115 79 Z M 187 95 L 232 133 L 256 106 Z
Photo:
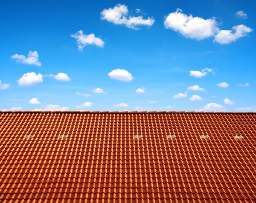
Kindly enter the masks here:
M 253 29 L 248 28 L 245 25 L 233 26 L 232 30 L 221 30 L 215 35 L 213 42 L 218 42 L 221 45 L 230 44 L 236 42 L 237 39 L 247 36 Z

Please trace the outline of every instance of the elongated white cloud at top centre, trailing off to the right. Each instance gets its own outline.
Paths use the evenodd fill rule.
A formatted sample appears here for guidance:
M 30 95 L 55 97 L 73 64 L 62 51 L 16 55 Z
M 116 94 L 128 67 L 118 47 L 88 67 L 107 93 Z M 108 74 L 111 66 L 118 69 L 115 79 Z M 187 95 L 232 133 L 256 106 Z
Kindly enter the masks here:
M 136 12 L 140 13 L 140 9 L 136 9 Z M 100 14 L 102 20 L 107 20 L 115 25 L 125 25 L 135 30 L 139 30 L 138 26 L 141 25 L 152 26 L 154 24 L 154 19 L 150 17 L 144 19 L 143 16 L 128 16 L 128 7 L 122 4 L 117 4 L 113 8 L 104 8 Z

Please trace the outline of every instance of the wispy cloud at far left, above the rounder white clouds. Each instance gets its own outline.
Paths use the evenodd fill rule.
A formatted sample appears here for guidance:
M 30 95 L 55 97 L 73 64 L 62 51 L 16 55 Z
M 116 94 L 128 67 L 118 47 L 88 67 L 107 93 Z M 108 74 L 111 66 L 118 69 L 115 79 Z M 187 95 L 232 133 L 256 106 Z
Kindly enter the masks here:
M 18 55 L 18 54 L 14 54 L 13 56 L 11 56 L 12 59 L 16 59 L 17 63 L 23 63 L 23 64 L 27 64 L 27 65 L 37 65 L 37 66 L 41 66 L 41 62 L 39 62 L 39 56 L 37 51 L 29 51 L 28 56 L 23 56 L 23 55 Z

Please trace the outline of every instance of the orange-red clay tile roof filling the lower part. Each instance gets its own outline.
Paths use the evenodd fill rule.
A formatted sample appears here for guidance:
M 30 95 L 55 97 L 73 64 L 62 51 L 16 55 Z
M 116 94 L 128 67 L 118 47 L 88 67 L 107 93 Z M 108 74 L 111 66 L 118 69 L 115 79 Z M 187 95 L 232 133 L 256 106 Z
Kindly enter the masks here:
M 256 113 L 2 112 L 0 202 L 256 202 Z

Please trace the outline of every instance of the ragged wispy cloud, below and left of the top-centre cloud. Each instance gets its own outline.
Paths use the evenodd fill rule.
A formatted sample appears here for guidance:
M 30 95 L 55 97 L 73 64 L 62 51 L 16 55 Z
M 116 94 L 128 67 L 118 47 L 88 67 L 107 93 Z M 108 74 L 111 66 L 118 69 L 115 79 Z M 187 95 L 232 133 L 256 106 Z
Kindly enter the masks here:
M 75 39 L 77 39 L 76 43 L 78 45 L 79 51 L 83 51 L 86 45 L 96 45 L 98 47 L 103 48 L 105 43 L 99 37 L 95 37 L 93 33 L 88 35 L 83 34 L 82 30 L 78 31 L 76 34 L 71 34 L 71 37 L 74 37 Z

